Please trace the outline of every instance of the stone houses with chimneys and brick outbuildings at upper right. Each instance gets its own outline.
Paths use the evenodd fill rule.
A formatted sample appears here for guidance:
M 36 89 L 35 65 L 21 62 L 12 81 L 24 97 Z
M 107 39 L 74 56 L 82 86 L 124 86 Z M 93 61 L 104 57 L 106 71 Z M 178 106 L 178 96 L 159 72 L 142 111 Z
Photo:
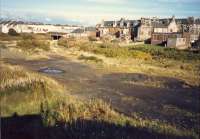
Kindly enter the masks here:
M 97 26 L 97 37 L 178 47 L 191 47 L 200 39 L 200 20 L 187 18 L 141 18 L 140 20 L 102 21 Z

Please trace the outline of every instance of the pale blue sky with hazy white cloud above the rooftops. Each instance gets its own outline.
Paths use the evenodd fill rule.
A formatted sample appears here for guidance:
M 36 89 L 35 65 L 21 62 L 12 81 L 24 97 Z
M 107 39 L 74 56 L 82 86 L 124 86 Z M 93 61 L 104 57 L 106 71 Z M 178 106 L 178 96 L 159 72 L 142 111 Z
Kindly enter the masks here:
M 200 0 L 0 0 L 1 17 L 96 24 L 121 17 L 200 17 Z

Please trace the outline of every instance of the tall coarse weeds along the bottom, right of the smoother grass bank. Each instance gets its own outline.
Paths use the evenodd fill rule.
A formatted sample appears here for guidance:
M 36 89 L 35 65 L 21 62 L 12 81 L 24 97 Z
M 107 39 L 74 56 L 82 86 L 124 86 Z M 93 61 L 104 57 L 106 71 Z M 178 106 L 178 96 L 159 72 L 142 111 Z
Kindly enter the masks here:
M 136 133 L 136 135 L 130 133 L 135 132 L 135 130 L 142 131 L 144 134 L 150 133 L 153 138 L 160 138 L 161 135 L 164 138 L 198 138 L 198 135 L 193 131 L 178 129 L 160 121 L 124 116 L 101 100 L 91 100 L 89 102 L 64 101 L 58 102 L 51 109 L 48 108 L 48 105 L 42 105 L 41 108 L 43 122 L 46 126 L 61 125 L 72 135 L 78 133 L 79 138 L 82 135 L 84 135 L 84 138 L 147 138 L 146 135 L 141 135 L 141 133 Z M 92 126 L 88 125 L 87 121 L 93 121 Z M 103 126 L 105 123 L 112 126 L 107 124 L 107 126 Z M 103 128 L 101 128 L 102 126 Z M 121 127 L 128 132 L 125 134 L 118 133 L 119 129 L 117 127 Z M 85 132 L 88 130 L 90 133 Z M 99 132 L 104 134 L 99 134 Z

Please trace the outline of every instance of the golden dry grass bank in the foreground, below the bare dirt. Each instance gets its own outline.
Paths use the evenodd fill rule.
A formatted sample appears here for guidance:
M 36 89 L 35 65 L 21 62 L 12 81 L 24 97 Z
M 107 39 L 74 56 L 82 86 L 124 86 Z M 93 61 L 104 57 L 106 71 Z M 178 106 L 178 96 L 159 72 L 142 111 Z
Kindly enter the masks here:
M 76 133 L 84 135 L 83 138 L 109 137 L 109 132 L 112 132 L 113 138 L 118 138 L 119 135 L 129 138 L 133 135 L 127 131 L 133 128 L 133 131 L 151 133 L 154 138 L 163 135 L 166 138 L 176 136 L 197 139 L 197 133 L 193 130 L 178 129 L 161 121 L 137 116 L 127 117 L 101 100 L 80 101 L 64 93 L 65 88 L 54 80 L 22 67 L 3 63 L 1 69 L 1 116 L 11 116 L 14 113 L 40 114 L 45 126 L 60 126 L 65 129 L 60 134 L 65 135 L 65 131 L 70 131 L 73 136 Z M 96 124 L 88 125 L 86 121 Z M 109 127 L 108 124 L 112 126 Z M 121 128 L 126 134 L 118 133 Z M 85 134 L 86 129 L 93 134 Z

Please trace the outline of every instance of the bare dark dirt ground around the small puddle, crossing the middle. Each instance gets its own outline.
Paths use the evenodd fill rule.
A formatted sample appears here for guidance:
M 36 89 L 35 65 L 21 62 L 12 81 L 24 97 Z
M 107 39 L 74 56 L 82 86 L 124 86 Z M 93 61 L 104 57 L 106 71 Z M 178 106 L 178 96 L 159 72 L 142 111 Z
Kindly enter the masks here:
M 175 78 L 113 72 L 58 55 L 39 60 L 4 56 L 2 60 L 49 76 L 81 99 L 103 99 L 117 111 L 129 116 L 159 119 L 185 128 L 199 124 L 199 88 L 188 86 Z M 41 73 L 43 68 L 57 68 L 64 73 Z M 145 86 L 146 81 L 160 81 L 165 87 Z

